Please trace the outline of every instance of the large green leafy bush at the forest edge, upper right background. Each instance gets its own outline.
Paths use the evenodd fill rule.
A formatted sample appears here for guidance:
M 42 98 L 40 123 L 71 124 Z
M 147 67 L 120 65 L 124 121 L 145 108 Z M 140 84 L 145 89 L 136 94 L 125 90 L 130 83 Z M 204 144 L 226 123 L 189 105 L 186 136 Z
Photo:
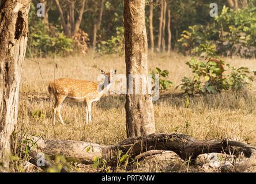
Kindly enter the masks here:
M 201 55 L 201 44 L 216 45 L 217 54 L 256 55 L 256 7 L 233 10 L 223 6 L 221 14 L 208 25 L 189 26 L 180 34 L 179 51 Z

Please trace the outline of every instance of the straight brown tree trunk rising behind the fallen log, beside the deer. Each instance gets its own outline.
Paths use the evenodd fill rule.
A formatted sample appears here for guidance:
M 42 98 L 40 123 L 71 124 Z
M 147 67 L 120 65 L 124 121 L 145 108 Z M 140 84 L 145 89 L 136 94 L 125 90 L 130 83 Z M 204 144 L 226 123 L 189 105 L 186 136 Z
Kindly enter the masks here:
M 152 97 L 146 94 L 130 93 L 135 88 L 131 75 L 144 77 L 148 84 L 148 40 L 145 27 L 145 1 L 125 0 L 125 62 L 127 89 L 126 95 L 126 134 L 127 137 L 148 135 L 155 132 L 155 117 Z M 131 75 L 130 75 L 131 74 Z M 142 85 L 144 83 L 142 81 Z M 133 85 L 132 85 L 133 84 Z M 140 91 L 142 86 L 139 84 Z M 139 91 L 139 92 L 140 92 Z

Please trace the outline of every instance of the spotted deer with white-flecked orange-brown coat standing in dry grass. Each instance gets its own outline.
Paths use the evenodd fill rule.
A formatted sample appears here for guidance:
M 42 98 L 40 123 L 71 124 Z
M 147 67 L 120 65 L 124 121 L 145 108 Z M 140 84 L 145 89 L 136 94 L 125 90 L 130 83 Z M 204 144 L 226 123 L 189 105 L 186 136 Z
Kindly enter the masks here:
M 116 70 L 111 71 L 111 73 L 105 73 L 103 70 L 100 70 L 100 72 L 105 76 L 104 83 L 108 82 L 108 85 L 104 89 L 101 89 L 103 85 L 97 85 L 97 83 L 92 81 L 80 81 L 76 79 L 61 78 L 50 82 L 48 85 L 48 92 L 53 94 L 55 98 L 52 118 L 54 125 L 56 112 L 58 113 L 62 124 L 65 125 L 61 116 L 61 107 L 65 101 L 85 102 L 86 124 L 88 124 L 88 117 L 89 121 L 92 121 L 92 102 L 99 101 L 103 94 L 105 94 L 110 89 L 112 84 L 110 79 L 114 77 Z

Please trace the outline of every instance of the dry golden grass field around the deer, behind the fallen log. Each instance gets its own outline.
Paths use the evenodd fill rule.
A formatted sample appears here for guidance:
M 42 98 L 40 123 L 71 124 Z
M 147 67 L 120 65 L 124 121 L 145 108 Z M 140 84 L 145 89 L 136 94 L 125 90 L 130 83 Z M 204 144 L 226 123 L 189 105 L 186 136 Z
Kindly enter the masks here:
M 185 62 L 190 57 L 177 53 L 167 56 L 165 53 L 149 54 L 148 69 L 155 67 L 170 72 L 170 81 L 179 85 L 183 76 L 191 76 Z M 88 53 L 83 56 L 56 58 L 58 68 L 54 69 L 52 58 L 25 59 L 22 68 L 20 108 L 18 113 L 18 131 L 29 134 L 38 133 L 46 138 L 83 140 L 99 144 L 115 144 L 126 138 L 125 97 L 114 95 L 93 102 L 92 123 L 85 124 L 85 108 L 82 104 L 63 105 L 63 126 L 57 117 L 52 126 L 51 108 L 54 99 L 47 98 L 46 88 L 54 78 L 74 78 L 96 82 L 99 68 L 110 71 L 117 69 L 125 74 L 125 58 L 116 55 L 98 56 Z M 226 63 L 236 67 L 256 68 L 255 59 L 223 58 Z M 42 72 L 42 76 L 40 75 Z M 190 106 L 185 108 L 186 99 L 176 95 L 175 87 L 165 91 L 160 99 L 153 102 L 155 108 L 156 132 L 186 133 L 197 139 L 229 138 L 256 145 L 256 98 L 255 86 L 238 93 L 223 92 L 206 97 L 190 98 Z M 29 95 L 35 95 L 31 98 Z M 42 98 L 40 98 L 42 97 Z M 44 118 L 33 117 L 40 110 Z

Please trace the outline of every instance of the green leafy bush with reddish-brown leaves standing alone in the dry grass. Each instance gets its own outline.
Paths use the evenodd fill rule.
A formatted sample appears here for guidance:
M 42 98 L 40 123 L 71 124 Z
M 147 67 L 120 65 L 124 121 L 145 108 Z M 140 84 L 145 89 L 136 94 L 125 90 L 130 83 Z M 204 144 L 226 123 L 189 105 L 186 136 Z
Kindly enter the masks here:
M 220 62 L 224 65 L 223 61 L 220 60 Z M 215 94 L 221 90 L 240 90 L 248 86 L 249 81 L 253 81 L 252 76 L 247 75 L 250 73 L 247 67 L 235 68 L 227 64 L 231 73 L 227 75 L 227 78 L 223 78 L 220 63 L 198 62 L 193 57 L 186 64 L 193 70 L 194 76 L 193 79 L 184 77 L 179 86 L 188 95 Z

